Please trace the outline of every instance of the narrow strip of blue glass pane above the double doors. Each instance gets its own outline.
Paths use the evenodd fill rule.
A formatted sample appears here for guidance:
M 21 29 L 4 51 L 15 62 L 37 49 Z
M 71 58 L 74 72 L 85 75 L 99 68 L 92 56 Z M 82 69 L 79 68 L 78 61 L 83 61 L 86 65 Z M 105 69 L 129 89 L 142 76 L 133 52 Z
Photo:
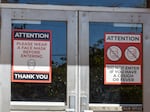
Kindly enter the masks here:
M 2 0 L 2 2 L 107 7 L 146 7 L 146 0 Z

